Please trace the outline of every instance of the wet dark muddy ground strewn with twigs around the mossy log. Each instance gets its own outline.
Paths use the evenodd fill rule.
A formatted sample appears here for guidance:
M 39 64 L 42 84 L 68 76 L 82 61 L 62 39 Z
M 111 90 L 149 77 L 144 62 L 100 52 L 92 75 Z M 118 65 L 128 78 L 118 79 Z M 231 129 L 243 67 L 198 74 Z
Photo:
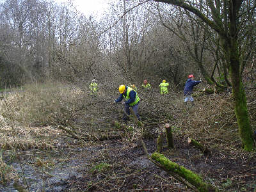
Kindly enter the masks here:
M 144 140 L 150 154 L 156 150 L 155 140 Z M 56 147 L 54 152 L 30 151 L 20 156 L 22 162 L 26 162 L 23 164 L 25 173 L 14 161 L 20 175 L 24 174 L 23 179 L 26 179 L 22 186 L 27 185 L 28 191 L 191 191 L 149 161 L 140 142 L 129 143 L 121 139 L 85 146 L 79 141 L 66 142 L 66 147 Z M 175 134 L 175 148 L 165 148 L 163 154 L 200 174 L 221 191 L 253 191 L 256 188 L 256 158 L 250 153 L 211 150 L 204 155 L 188 145 L 186 137 Z M 33 156 L 40 156 L 42 164 Z M 15 188 L 6 186 L 2 190 L 15 191 Z

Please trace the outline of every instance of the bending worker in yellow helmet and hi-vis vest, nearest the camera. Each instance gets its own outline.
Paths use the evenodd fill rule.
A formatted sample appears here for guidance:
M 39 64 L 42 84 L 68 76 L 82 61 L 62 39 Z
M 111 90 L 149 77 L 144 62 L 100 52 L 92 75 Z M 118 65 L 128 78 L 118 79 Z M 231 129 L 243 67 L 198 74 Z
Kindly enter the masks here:
M 131 87 L 125 86 L 124 84 L 119 86 L 119 92 L 120 96 L 118 99 L 115 100 L 115 103 L 121 102 L 123 99 L 124 104 L 124 116 L 123 116 L 123 121 L 127 122 L 129 119 L 128 115 L 130 115 L 130 107 L 134 111 L 135 115 L 137 116 L 138 120 L 140 121 L 140 116 L 139 116 L 139 103 L 140 103 L 140 98 L 138 97 L 138 94 L 136 91 L 134 91 Z

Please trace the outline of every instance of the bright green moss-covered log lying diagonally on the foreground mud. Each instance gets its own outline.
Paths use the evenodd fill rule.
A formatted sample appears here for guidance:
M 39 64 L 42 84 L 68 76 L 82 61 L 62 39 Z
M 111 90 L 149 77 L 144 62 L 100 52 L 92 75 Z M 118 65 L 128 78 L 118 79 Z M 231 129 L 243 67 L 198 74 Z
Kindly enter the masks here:
M 207 184 L 204 182 L 204 180 L 197 175 L 196 173 L 191 172 L 191 170 L 188 170 L 184 168 L 184 166 L 179 166 L 179 164 L 174 163 L 164 157 L 162 154 L 159 154 L 158 152 L 154 152 L 152 154 L 152 159 L 154 161 L 157 161 L 157 163 L 161 164 L 161 166 L 164 167 L 164 170 L 168 172 L 172 172 L 174 174 L 179 175 L 180 177 L 187 180 L 190 184 L 195 186 L 196 189 L 202 192 L 215 192 L 218 191 L 218 189 L 214 188 L 211 184 Z

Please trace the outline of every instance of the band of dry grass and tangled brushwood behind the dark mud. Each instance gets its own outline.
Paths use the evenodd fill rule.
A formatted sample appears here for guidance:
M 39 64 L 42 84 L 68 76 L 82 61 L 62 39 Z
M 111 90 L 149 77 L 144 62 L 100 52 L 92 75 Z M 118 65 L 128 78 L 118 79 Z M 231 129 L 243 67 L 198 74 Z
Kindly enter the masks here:
M 159 132 L 164 132 L 161 122 L 165 120 L 173 129 L 176 143 L 180 138 L 193 138 L 211 150 L 225 150 L 232 156 L 246 155 L 241 148 L 230 93 L 200 95 L 195 97 L 195 106 L 184 106 L 182 93 L 160 95 L 154 90 L 150 94 L 139 90 L 138 94 L 141 120 L 146 126 L 143 131 L 134 124 L 132 116 L 126 127 L 111 124 L 113 120 L 121 122 L 123 114 L 122 105 L 113 104 L 118 93 L 114 94 L 116 98 L 109 96 L 113 95 L 113 90 L 102 90 L 92 97 L 85 88 L 60 83 L 27 85 L 22 92 L 9 93 L 0 102 L 0 147 L 13 151 L 51 150 L 61 145 L 62 136 L 76 138 L 84 145 L 113 135 L 120 136 L 131 147 L 145 133 L 147 138 L 155 140 Z M 255 130 L 256 102 L 253 95 L 255 92 L 248 93 L 247 100 L 252 129 Z M 247 156 L 254 158 L 255 152 Z M 1 181 L 7 182 L 12 168 L 1 158 L 0 166 Z M 101 162 L 92 170 L 101 172 L 110 167 Z M 223 188 L 230 187 L 232 182 L 234 179 L 223 181 Z

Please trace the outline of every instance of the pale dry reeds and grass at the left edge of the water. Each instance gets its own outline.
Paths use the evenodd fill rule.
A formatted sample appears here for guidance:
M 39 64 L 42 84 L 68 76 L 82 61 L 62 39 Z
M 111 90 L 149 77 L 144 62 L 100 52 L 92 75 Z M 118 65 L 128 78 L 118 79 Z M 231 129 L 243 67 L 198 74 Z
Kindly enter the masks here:
M 0 145 L 4 149 L 52 148 L 57 130 L 49 127 L 63 116 L 61 110 L 72 110 L 81 95 L 60 84 L 26 86 L 24 92 L 13 92 L 0 102 Z M 62 115 L 62 116 L 61 116 Z

